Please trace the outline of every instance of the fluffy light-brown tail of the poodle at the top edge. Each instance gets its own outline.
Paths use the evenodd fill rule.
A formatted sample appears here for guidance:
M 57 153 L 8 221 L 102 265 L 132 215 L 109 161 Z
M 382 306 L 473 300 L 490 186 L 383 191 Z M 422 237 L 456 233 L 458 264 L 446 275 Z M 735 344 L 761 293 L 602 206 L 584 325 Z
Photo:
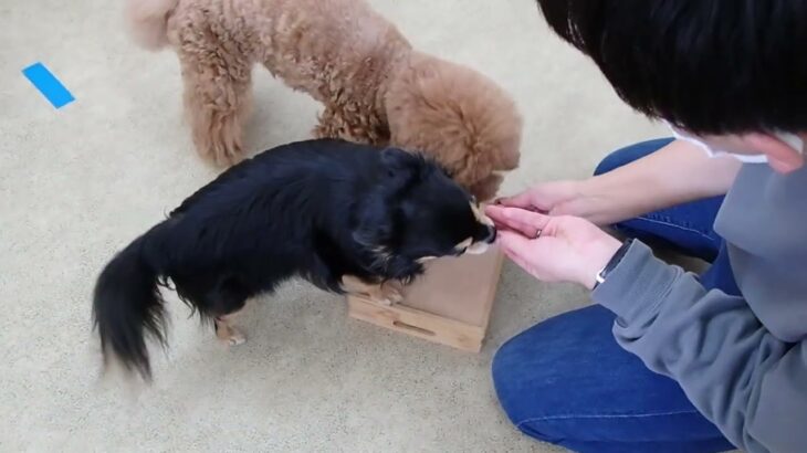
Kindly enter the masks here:
M 135 42 L 156 51 L 168 44 L 168 14 L 179 0 L 126 0 L 126 22 Z

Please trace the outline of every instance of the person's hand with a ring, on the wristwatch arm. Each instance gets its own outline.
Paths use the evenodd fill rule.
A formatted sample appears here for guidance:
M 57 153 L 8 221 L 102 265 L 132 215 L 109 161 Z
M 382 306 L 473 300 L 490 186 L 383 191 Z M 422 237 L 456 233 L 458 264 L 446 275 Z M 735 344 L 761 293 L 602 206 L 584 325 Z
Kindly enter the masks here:
M 621 243 L 577 217 L 552 217 L 521 208 L 489 206 L 496 242 L 526 272 L 545 282 L 574 282 L 591 289 L 597 273 Z

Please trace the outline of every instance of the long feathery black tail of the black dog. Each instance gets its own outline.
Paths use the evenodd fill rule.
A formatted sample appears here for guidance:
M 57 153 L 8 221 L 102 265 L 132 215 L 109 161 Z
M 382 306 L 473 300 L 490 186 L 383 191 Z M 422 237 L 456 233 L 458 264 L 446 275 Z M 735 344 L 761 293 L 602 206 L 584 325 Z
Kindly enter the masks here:
M 93 298 L 104 365 L 117 359 L 126 371 L 137 371 L 146 380 L 151 377 L 146 336 L 166 343 L 160 275 L 155 265 L 161 261 L 155 256 L 160 247 L 149 246 L 166 227 L 164 222 L 153 228 L 113 257 L 98 276 Z

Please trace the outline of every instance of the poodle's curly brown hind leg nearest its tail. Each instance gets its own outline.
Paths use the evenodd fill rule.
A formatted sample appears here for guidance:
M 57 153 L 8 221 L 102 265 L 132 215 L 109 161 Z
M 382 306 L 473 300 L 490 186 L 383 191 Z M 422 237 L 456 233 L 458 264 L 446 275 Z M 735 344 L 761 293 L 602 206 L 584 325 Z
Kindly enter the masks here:
M 243 158 L 243 127 L 251 107 L 251 62 L 220 44 L 180 53 L 185 108 L 201 157 L 219 166 Z

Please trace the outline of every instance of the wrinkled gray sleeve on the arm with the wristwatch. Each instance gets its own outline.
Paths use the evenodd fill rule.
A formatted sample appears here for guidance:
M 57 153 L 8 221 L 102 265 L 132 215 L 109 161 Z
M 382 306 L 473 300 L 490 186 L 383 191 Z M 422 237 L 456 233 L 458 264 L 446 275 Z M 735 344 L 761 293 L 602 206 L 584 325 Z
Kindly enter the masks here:
M 805 341 L 774 338 L 742 297 L 708 292 L 639 241 L 593 298 L 617 315 L 617 341 L 677 380 L 736 446 L 807 451 Z

